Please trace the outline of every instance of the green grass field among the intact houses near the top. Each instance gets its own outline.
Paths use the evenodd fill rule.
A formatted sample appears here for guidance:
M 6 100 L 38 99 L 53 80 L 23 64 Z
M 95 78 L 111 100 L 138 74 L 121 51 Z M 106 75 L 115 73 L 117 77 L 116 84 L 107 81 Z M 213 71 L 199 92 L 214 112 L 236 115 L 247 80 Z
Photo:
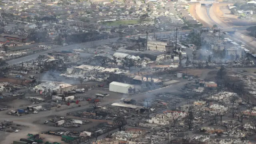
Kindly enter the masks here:
M 108 22 L 100 22 L 101 24 L 107 26 L 120 26 L 120 25 L 128 25 L 128 24 L 140 24 L 143 22 L 150 22 L 151 20 L 115 20 Z

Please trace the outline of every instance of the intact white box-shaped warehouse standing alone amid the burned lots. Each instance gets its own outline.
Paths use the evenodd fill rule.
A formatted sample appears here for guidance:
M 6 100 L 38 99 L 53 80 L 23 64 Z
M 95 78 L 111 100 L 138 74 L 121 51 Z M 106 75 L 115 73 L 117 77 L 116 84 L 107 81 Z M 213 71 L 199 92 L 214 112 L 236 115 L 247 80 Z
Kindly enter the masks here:
M 134 88 L 134 86 L 131 84 L 125 84 L 122 82 L 111 82 L 109 84 L 109 91 L 112 91 L 112 92 L 128 94 L 130 88 Z

